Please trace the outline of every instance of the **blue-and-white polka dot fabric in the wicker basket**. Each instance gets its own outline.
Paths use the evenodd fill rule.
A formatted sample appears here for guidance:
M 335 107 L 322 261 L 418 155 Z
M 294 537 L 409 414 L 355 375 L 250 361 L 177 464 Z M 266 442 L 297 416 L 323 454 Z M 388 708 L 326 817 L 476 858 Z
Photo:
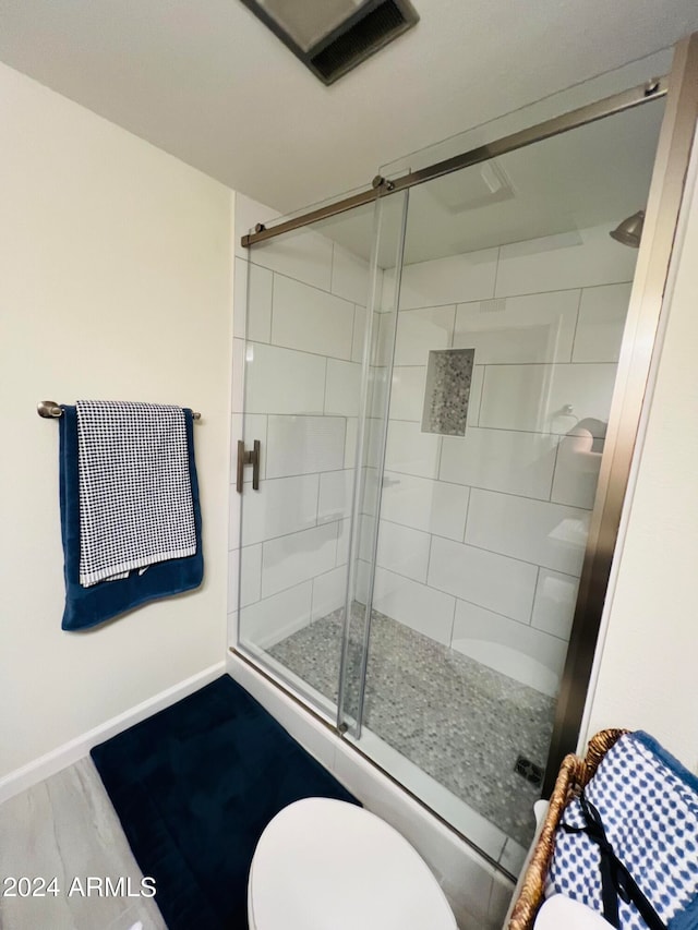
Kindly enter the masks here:
M 669 930 L 698 930 L 698 778 L 641 730 L 606 752 L 585 796 L 601 814 L 615 856 Z M 563 814 L 585 828 L 579 800 Z M 557 830 L 547 893 L 603 914 L 599 846 Z M 633 902 L 618 901 L 622 930 L 648 930 Z

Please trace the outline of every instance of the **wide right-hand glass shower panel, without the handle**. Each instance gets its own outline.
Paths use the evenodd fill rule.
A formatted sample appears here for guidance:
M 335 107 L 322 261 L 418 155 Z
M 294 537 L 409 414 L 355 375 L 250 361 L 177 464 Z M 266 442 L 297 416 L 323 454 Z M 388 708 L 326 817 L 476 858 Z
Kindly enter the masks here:
M 410 192 L 361 745 L 504 868 L 533 831 L 661 101 Z

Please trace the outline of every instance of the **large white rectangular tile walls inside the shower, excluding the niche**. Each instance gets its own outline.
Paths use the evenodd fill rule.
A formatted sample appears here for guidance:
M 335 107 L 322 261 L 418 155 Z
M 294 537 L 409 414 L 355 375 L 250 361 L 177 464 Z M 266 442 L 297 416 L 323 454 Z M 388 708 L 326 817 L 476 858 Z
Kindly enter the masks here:
M 258 431 L 265 447 L 262 492 L 244 504 L 241 623 L 243 638 L 254 630 L 272 643 L 344 603 L 369 269 L 313 232 L 251 257 L 245 287 L 236 281 L 234 359 L 245 351 L 244 300 L 245 434 Z M 569 637 L 635 259 L 604 227 L 402 274 L 374 606 L 549 695 Z M 382 288 L 389 309 L 389 269 Z M 374 314 L 373 362 L 384 367 L 369 461 L 381 449 L 394 318 Z M 448 348 L 474 349 L 465 437 L 421 431 L 429 352 Z M 233 452 L 240 426 L 233 418 Z M 377 472 L 365 474 L 370 515 Z M 371 526 L 359 528 L 359 594 Z

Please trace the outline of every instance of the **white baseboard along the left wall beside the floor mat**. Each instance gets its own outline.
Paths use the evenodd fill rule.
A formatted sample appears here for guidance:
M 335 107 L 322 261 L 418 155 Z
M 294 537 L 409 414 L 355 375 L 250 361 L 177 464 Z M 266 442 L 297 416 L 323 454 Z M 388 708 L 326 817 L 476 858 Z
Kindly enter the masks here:
M 69 742 L 64 742 L 21 769 L 15 769 L 14 772 L 10 772 L 9 775 L 0 778 L 0 804 L 26 790 L 26 788 L 31 788 L 32 785 L 43 782 L 44 778 L 55 775 L 68 765 L 72 765 L 79 759 L 83 759 L 93 746 L 110 739 L 123 729 L 128 729 L 133 724 L 168 708 L 225 674 L 226 662 L 216 662 L 215 665 L 209 665 L 203 672 L 197 672 L 196 675 L 179 681 L 171 688 L 166 688 L 158 695 L 154 695 L 134 708 L 105 721 L 99 726 L 93 727 L 93 729 L 81 734 Z

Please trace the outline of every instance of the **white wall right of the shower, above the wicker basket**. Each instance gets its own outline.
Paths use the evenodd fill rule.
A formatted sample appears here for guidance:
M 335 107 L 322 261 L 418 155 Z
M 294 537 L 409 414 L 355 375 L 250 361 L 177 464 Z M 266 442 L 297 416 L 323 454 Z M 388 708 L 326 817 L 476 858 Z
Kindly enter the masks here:
M 587 737 L 642 728 L 698 771 L 698 145 Z M 682 241 L 683 238 L 683 241 Z

